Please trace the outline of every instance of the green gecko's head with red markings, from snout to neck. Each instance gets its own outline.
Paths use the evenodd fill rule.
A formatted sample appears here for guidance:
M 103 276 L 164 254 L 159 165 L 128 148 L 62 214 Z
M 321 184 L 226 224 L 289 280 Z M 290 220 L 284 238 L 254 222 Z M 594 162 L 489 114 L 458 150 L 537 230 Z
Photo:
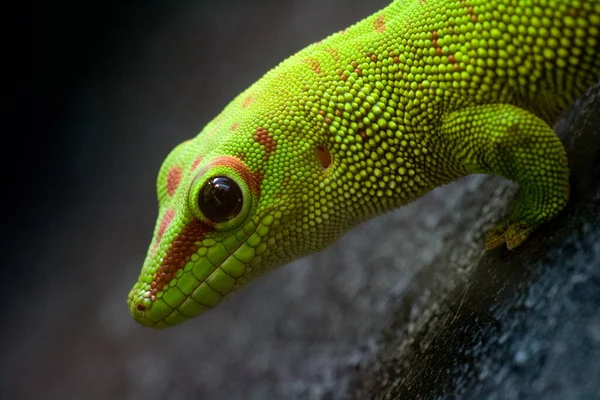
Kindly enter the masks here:
M 337 237 L 328 223 L 331 196 L 319 189 L 329 152 L 314 142 L 277 143 L 263 127 L 249 133 L 220 135 L 217 144 L 201 134 L 164 161 L 154 235 L 128 297 L 142 325 L 166 328 L 198 316 Z

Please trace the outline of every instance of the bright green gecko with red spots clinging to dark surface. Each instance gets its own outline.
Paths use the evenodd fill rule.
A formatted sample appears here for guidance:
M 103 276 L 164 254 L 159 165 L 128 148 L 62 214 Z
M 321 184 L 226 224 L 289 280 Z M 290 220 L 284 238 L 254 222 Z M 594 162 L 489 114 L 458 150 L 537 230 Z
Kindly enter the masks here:
M 600 0 L 403 0 L 240 94 L 158 175 L 133 317 L 165 328 L 365 219 L 471 173 L 521 187 L 486 247 L 569 197 L 551 129 L 600 79 Z

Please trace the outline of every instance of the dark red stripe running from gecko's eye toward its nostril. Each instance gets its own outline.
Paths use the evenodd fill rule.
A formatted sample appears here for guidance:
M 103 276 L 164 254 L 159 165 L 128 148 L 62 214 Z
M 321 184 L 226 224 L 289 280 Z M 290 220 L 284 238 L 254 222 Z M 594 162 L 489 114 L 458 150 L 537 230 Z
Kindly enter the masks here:
M 150 294 L 156 296 L 175 277 L 175 273 L 185 267 L 192 254 L 198 250 L 197 242 L 204 240 L 206 233 L 214 228 L 200 220 L 190 221 L 169 246 L 162 264 L 152 277 Z

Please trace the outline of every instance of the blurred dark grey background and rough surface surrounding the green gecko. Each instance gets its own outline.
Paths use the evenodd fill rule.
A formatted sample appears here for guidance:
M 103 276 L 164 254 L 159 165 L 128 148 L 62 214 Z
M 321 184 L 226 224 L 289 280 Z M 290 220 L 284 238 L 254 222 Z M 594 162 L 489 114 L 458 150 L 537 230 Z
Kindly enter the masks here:
M 279 61 L 387 3 L 6 12 L 0 398 L 600 398 L 598 88 L 563 124 L 573 201 L 518 252 L 481 251 L 514 186 L 470 177 L 201 318 L 166 331 L 130 318 L 168 152 Z

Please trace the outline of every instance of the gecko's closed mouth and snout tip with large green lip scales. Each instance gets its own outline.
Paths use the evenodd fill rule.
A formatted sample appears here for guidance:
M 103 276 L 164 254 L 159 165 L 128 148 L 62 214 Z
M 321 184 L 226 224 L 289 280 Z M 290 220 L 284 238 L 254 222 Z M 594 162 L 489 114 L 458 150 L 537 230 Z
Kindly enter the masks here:
M 165 262 L 151 276 L 151 283 L 138 283 L 131 291 L 129 307 L 134 319 L 145 326 L 166 328 L 218 305 L 234 290 L 236 281 L 250 271 L 250 266 L 261 262 L 273 222 L 273 216 L 248 222 L 221 241 L 198 239 L 198 235 L 190 234 L 193 228 L 186 229 L 179 236 L 196 240 L 176 239 Z M 175 248 L 177 256 L 170 255 Z

